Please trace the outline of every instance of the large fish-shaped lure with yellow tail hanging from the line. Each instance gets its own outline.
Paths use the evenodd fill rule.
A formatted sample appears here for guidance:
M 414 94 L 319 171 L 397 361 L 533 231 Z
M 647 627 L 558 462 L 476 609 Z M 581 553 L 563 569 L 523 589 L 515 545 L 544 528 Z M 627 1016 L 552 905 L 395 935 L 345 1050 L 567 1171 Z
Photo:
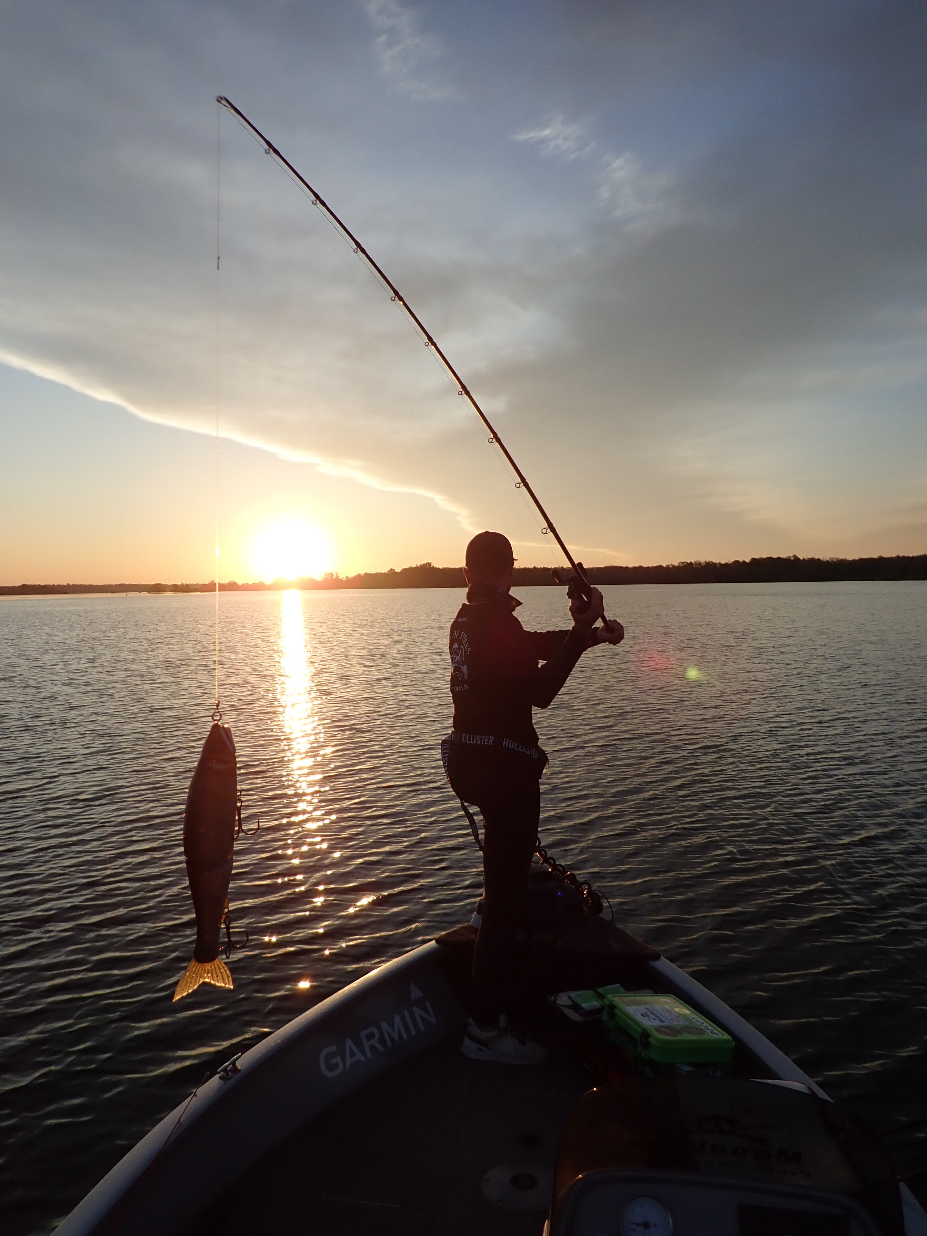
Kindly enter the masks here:
M 197 913 L 197 944 L 174 1000 L 195 991 L 201 983 L 232 986 L 231 971 L 219 958 L 219 932 L 229 910 L 237 796 L 235 742 L 231 729 L 216 722 L 203 744 L 183 813 L 183 853 Z

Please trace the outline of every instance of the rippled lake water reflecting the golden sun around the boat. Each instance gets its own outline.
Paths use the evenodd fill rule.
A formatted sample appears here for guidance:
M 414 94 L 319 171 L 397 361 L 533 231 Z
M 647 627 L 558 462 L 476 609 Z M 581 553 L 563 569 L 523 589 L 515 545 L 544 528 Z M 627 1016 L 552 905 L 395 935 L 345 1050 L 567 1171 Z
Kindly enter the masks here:
M 927 585 L 604 591 L 625 644 L 539 714 L 546 844 L 873 1127 L 921 1119 Z M 564 624 L 560 590 L 519 595 L 527 627 Z M 206 1070 L 468 917 L 478 854 L 438 749 L 461 598 L 222 595 L 251 938 L 234 993 L 177 1005 L 213 601 L 0 602 L 7 1236 L 49 1231 Z M 902 1169 L 925 1132 L 891 1136 Z

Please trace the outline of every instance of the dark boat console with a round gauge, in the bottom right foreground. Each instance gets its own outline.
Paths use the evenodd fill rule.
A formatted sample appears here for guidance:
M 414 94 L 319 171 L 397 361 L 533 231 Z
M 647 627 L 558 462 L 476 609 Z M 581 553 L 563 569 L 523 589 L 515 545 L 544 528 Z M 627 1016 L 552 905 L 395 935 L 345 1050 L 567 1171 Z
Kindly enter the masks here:
M 585 1094 L 549 1236 L 895 1236 L 883 1152 L 800 1083 L 629 1077 Z

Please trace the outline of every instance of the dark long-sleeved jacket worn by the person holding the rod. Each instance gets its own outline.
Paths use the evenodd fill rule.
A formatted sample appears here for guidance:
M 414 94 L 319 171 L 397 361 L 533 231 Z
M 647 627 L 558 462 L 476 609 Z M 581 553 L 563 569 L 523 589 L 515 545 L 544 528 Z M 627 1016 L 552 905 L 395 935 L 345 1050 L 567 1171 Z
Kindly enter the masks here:
M 525 630 L 513 613 L 520 604 L 476 585 L 451 623 L 455 730 L 536 744 L 531 708 L 552 702 L 590 646 L 583 632 Z

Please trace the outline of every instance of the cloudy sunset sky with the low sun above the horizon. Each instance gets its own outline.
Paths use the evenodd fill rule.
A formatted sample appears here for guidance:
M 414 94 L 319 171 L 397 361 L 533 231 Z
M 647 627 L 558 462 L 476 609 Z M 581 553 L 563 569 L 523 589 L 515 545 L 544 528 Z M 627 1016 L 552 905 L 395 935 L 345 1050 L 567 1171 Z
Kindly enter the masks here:
M 454 565 L 482 528 L 554 561 L 216 94 L 389 273 L 586 564 L 927 550 L 916 0 L 7 0 L 0 25 L 0 583 L 213 578 L 216 508 L 222 580 Z

